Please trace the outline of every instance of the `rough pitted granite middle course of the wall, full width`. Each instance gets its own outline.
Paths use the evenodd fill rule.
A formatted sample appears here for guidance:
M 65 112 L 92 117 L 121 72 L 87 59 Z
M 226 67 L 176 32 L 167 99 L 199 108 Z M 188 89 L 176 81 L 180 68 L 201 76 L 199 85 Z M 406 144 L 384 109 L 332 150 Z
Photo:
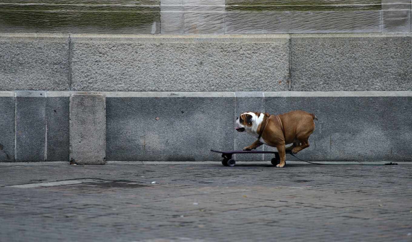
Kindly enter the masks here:
M 0 90 L 410 91 L 411 34 L 0 34 Z

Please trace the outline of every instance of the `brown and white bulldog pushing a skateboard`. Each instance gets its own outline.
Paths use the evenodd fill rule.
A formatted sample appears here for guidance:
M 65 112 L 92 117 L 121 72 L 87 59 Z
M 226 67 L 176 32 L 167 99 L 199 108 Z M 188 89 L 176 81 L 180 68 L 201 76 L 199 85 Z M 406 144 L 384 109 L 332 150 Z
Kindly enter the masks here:
M 279 115 L 268 113 L 244 112 L 236 119 L 236 130 L 246 132 L 258 138 L 243 150 L 252 150 L 267 144 L 276 147 L 281 162 L 276 167 L 285 166 L 286 150 L 293 154 L 309 147 L 309 136 L 315 130 L 314 114 L 296 110 Z M 286 144 L 292 144 L 286 148 Z

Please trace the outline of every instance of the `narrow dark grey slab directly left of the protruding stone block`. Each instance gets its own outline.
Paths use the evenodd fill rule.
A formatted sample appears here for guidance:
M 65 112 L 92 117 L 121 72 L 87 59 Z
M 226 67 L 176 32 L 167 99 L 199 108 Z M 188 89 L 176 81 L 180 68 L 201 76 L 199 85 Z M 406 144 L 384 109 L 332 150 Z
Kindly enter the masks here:
M 47 93 L 48 94 L 48 93 Z M 46 98 L 46 161 L 69 160 L 69 97 Z

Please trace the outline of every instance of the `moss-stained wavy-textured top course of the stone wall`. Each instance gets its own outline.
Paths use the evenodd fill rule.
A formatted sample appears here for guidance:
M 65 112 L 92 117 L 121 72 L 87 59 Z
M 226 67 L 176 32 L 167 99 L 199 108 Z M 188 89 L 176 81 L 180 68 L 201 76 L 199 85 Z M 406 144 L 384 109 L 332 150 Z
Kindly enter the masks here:
M 411 0 L 12 0 L 0 32 L 410 33 Z

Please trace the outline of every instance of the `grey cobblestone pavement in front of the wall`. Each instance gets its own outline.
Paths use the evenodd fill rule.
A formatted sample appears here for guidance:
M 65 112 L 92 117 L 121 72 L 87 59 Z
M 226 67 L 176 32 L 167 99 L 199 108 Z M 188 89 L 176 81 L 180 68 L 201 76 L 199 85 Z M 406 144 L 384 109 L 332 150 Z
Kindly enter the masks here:
M 411 178 L 408 164 L 1 165 L 0 241 L 412 241 Z

